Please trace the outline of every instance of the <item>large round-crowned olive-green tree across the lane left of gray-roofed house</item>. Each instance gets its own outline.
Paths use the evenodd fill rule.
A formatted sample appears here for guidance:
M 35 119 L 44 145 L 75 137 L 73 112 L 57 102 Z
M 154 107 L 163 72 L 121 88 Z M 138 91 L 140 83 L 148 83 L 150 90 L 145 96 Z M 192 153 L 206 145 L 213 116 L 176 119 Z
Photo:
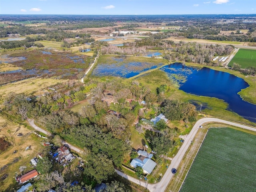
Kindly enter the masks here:
M 104 154 L 91 154 L 84 174 L 92 176 L 98 183 L 111 179 L 116 173 L 113 162 Z

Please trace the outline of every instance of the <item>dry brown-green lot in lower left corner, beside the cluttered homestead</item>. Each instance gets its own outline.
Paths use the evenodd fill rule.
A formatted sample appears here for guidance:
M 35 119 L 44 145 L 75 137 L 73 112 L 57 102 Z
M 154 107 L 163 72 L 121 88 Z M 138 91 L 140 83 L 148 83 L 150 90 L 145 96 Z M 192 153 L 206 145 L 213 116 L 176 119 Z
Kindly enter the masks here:
M 10 133 L 8 133 L 8 130 L 10 130 Z M 22 133 L 23 136 L 17 136 L 18 133 Z M 44 146 L 41 142 L 43 142 L 43 140 L 33 134 L 33 131 L 29 130 L 24 125 L 13 123 L 3 116 L 0 116 L 0 136 L 6 136 L 8 141 L 12 144 L 6 151 L 0 154 L 0 178 L 4 174 L 8 174 L 7 178 L 0 181 L 0 191 L 14 191 L 13 188 L 20 188 L 18 183 L 14 180 L 14 176 L 20 174 L 19 167 L 27 167 L 22 172 L 23 174 L 33 169 L 30 167 L 30 159 L 37 156 L 38 153 L 42 151 Z M 25 151 L 25 148 L 30 145 L 31 150 Z M 13 154 L 14 150 L 18 152 Z M 5 168 L 3 168 L 3 166 Z

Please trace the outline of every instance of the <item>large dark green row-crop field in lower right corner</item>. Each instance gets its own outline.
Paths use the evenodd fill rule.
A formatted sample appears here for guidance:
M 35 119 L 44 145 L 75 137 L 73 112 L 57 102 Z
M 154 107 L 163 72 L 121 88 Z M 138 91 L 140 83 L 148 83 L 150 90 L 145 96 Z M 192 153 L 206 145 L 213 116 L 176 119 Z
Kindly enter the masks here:
M 210 128 L 180 192 L 255 192 L 256 136 Z

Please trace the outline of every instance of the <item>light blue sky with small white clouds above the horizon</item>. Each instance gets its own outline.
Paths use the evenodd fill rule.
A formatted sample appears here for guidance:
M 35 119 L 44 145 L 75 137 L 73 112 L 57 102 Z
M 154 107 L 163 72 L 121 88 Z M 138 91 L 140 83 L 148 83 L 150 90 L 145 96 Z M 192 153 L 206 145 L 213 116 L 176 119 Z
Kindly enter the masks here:
M 0 0 L 0 14 L 256 14 L 256 0 Z

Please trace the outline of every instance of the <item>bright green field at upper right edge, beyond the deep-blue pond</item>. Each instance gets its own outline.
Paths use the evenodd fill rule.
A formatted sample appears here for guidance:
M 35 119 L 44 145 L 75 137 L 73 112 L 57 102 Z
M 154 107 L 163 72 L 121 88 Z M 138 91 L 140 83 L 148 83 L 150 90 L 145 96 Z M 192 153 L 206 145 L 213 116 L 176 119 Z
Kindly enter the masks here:
M 238 63 L 243 69 L 249 66 L 256 67 L 256 50 L 239 49 L 229 62 L 229 66 L 232 66 L 233 63 Z

